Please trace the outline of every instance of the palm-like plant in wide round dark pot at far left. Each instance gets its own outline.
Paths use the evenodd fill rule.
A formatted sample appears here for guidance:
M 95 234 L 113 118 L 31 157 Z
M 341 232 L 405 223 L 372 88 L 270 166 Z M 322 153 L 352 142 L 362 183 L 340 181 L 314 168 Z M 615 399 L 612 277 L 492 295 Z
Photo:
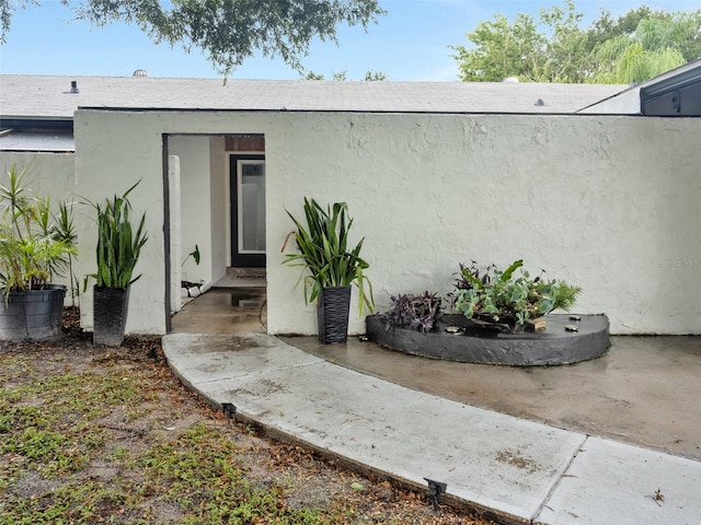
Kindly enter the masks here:
M 0 338 L 44 340 L 60 334 L 66 296 L 51 279 L 77 252 L 50 199 L 33 195 L 26 175 L 26 166 L 12 164 L 0 186 Z

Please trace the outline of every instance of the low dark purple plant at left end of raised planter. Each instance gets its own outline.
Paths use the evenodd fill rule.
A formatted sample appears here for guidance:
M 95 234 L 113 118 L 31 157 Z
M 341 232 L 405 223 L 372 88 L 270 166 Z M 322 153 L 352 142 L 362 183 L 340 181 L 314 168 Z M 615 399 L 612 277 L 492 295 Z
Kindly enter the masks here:
M 425 291 L 421 294 L 405 293 L 391 296 L 390 308 L 381 314 L 384 329 L 411 328 L 423 334 L 430 331 L 441 316 L 443 299 Z

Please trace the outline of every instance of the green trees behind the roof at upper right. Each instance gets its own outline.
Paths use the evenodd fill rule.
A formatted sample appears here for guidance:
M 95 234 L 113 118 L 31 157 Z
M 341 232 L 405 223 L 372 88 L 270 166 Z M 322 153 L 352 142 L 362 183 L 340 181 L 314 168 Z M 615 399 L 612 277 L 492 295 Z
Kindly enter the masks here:
M 573 0 L 540 10 L 538 20 L 497 14 L 452 46 L 466 82 L 642 82 L 701 57 L 701 10 L 653 11 L 642 5 L 613 19 L 602 10 L 583 28 Z

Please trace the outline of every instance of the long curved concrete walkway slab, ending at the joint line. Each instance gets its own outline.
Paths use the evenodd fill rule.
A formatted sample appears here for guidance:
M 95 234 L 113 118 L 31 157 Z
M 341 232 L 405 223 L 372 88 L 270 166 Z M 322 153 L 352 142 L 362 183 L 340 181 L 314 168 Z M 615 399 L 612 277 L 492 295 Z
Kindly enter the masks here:
M 226 348 L 221 347 L 226 345 Z M 260 345 L 255 348 L 255 345 Z M 503 523 L 530 523 L 584 434 L 364 375 L 261 335 L 163 338 L 174 373 L 215 407 L 352 468 Z

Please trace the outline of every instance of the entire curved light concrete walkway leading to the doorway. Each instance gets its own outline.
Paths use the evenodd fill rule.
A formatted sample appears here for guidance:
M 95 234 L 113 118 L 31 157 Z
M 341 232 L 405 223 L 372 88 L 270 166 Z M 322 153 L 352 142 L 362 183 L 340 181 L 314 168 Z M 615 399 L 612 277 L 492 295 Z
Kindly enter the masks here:
M 505 522 L 698 524 L 701 462 L 475 408 L 264 334 L 172 334 L 173 371 L 210 402 Z

